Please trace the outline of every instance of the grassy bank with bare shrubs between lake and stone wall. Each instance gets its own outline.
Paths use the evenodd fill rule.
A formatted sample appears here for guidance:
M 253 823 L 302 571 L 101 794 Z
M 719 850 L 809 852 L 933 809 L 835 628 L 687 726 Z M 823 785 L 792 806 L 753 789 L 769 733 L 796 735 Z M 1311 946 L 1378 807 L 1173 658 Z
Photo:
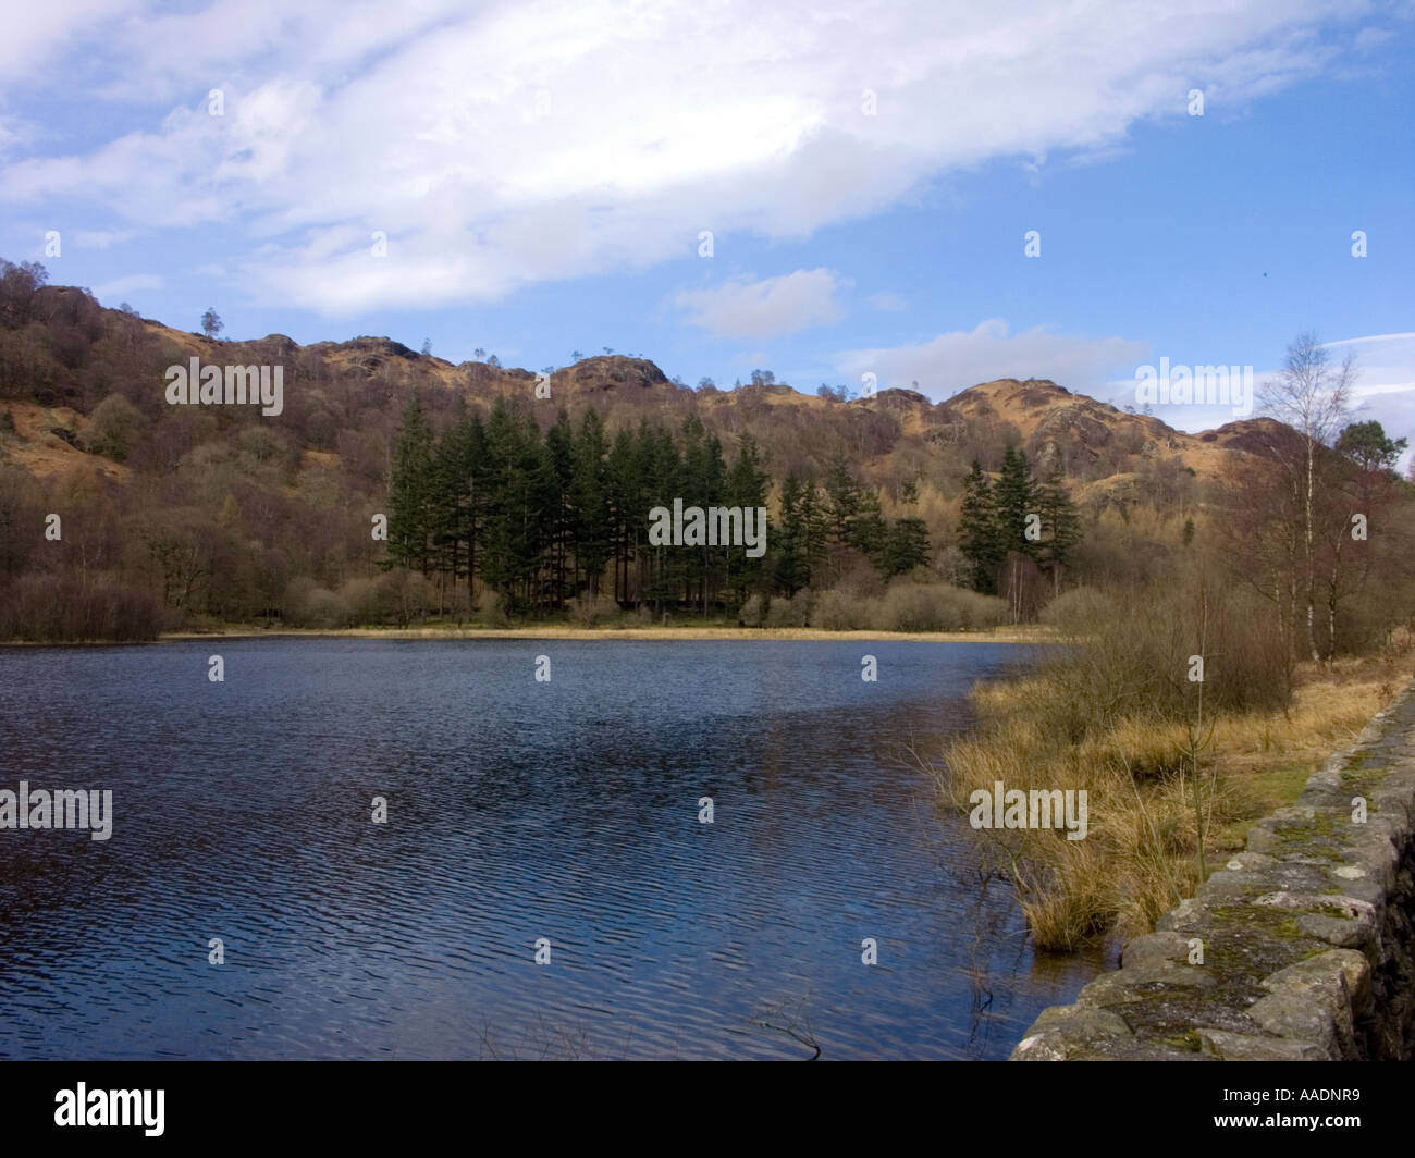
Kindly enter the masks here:
M 1207 612 L 1199 630 L 1213 658 L 1200 685 L 1176 678 L 1200 650 L 1199 624 L 1183 613 L 1142 599 L 1088 609 L 1063 626 L 1070 648 L 975 689 L 981 723 L 935 769 L 944 800 L 964 813 L 972 793 L 996 781 L 1087 793 L 1084 839 L 1060 828 L 978 830 L 985 861 L 1013 881 L 1041 948 L 1150 930 L 1193 893 L 1201 864 L 1221 868 L 1252 821 L 1296 800 L 1415 672 L 1408 631 L 1367 657 L 1293 667 L 1244 638 L 1258 621 L 1252 607 Z M 1230 677 L 1247 665 L 1242 678 L 1225 685 L 1225 663 Z

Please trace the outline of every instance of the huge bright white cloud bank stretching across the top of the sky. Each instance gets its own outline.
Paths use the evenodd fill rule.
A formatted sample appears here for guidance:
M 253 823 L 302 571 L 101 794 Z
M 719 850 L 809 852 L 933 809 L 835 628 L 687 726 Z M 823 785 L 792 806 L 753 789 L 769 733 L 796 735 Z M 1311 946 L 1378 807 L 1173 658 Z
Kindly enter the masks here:
M 1330 24 L 1310 35 L 1333 11 L 422 0 L 391 20 L 375 0 L 216 0 L 99 25 L 103 75 L 85 91 L 74 69 L 75 96 L 125 117 L 164 103 L 92 150 L 0 166 L 0 201 L 219 224 L 252 242 L 241 276 L 269 303 L 491 300 L 692 256 L 700 229 L 802 238 L 993 157 L 1118 147 L 1139 119 L 1183 116 L 1191 86 L 1234 106 L 1317 74 L 1343 48 Z M 21 42 L 48 52 L 78 23 L 34 17 Z

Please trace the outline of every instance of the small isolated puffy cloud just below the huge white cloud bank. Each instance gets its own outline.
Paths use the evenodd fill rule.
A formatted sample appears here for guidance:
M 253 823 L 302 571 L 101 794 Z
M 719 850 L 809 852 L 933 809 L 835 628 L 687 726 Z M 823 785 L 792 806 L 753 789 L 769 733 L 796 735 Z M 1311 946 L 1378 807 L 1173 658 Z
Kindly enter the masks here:
M 685 290 L 674 303 L 693 326 L 719 337 L 771 338 L 839 321 L 839 292 L 849 282 L 832 269 L 798 269 L 761 282 L 736 279 L 710 290 Z

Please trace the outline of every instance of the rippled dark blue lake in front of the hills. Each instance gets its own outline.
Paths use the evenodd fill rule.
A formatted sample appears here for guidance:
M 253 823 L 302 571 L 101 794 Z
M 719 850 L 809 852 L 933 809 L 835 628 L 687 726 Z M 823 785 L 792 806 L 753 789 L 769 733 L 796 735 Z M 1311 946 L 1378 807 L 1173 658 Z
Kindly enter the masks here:
M 1105 963 L 1033 956 L 910 752 L 1024 654 L 0 648 L 0 789 L 113 794 L 0 830 L 0 1056 L 1006 1057 Z

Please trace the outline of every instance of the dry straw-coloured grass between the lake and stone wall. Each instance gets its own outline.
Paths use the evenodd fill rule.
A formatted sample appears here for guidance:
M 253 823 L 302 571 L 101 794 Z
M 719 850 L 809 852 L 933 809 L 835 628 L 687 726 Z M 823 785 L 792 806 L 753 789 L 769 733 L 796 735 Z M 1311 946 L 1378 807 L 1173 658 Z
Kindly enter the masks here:
M 1211 872 L 1242 848 L 1257 818 L 1293 803 L 1412 674 L 1415 650 L 1405 637 L 1378 657 L 1299 668 L 1288 711 L 1220 712 L 1199 757 L 1201 813 L 1184 723 L 1078 708 L 1067 696 L 1074 689 L 1063 691 L 1046 668 L 976 688 L 981 726 L 957 739 L 934 772 L 944 800 L 964 813 L 975 789 L 999 780 L 1009 789 L 1087 791 L 1084 841 L 1068 841 L 1061 830 L 978 832 L 988 866 L 1016 886 L 1034 944 L 1068 951 L 1099 931 L 1129 937 L 1153 929 L 1197 886 L 1200 815 Z

